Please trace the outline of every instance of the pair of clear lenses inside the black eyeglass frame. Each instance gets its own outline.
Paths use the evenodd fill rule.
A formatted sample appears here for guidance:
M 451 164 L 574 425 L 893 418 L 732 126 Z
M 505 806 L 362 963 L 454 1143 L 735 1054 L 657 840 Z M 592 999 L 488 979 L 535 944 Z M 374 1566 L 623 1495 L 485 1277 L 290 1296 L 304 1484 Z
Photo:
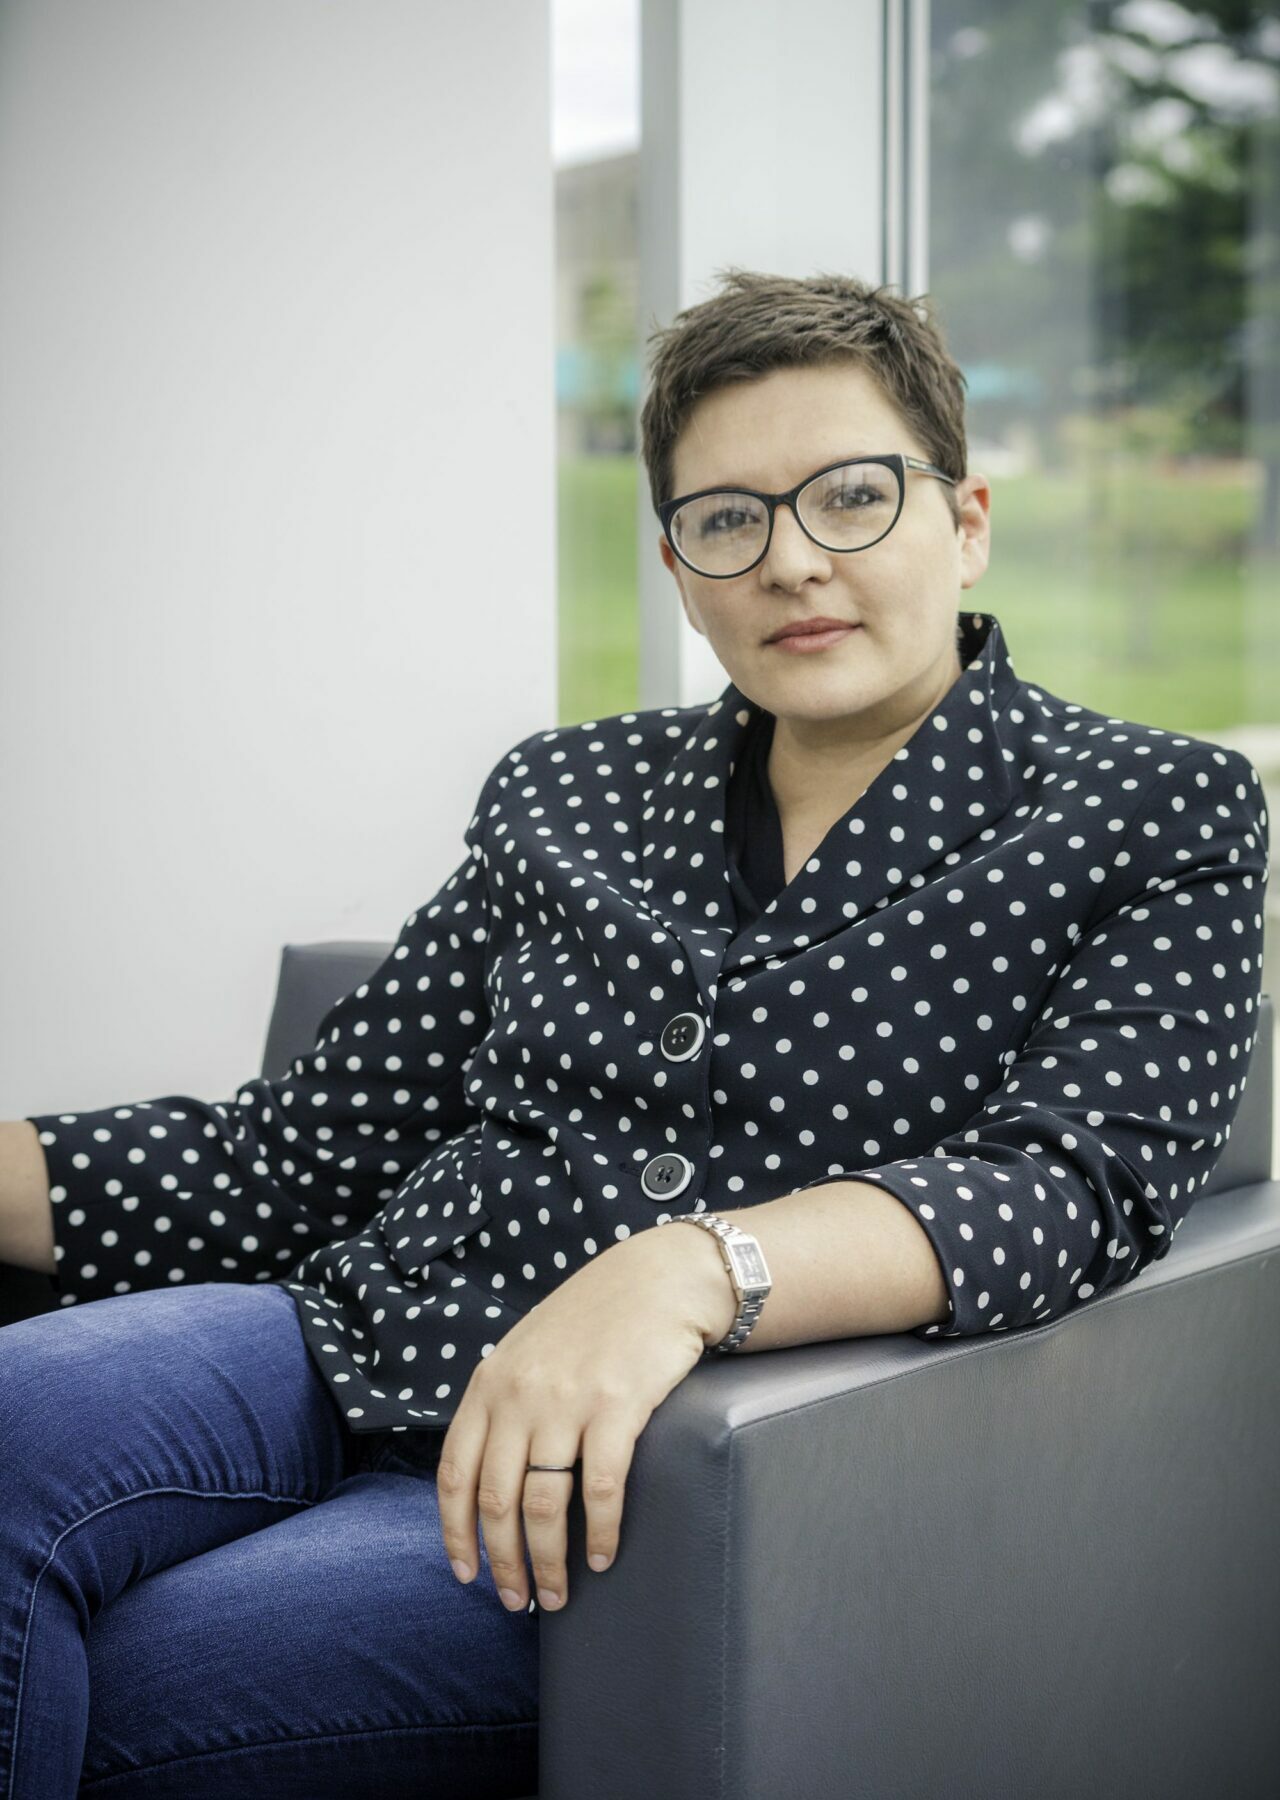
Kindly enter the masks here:
M 893 524 L 898 477 L 886 463 L 844 463 L 810 481 L 796 504 L 825 549 L 866 549 Z M 672 538 L 702 574 L 740 574 L 756 562 L 767 536 L 769 508 L 733 488 L 686 500 L 672 517 Z

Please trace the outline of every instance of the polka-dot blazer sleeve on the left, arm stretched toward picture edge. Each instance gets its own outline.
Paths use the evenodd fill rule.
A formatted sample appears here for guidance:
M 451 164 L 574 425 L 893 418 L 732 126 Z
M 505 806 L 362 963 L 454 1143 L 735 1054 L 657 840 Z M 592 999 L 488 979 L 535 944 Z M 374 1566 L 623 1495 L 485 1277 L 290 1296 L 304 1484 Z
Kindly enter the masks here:
M 464 1093 L 490 1026 L 482 832 L 400 927 L 382 965 L 324 1013 L 288 1075 L 230 1100 L 162 1094 L 25 1114 L 49 1165 L 61 1305 L 182 1282 L 279 1280 L 360 1229 L 407 1166 L 477 1118 Z

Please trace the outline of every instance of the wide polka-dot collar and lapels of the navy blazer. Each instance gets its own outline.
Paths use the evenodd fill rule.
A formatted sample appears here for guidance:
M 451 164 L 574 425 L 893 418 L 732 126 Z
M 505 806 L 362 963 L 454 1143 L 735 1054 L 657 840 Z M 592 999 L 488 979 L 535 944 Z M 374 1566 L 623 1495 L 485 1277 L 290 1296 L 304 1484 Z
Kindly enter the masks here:
M 1021 684 L 990 612 L 961 612 L 958 625 L 960 679 L 742 932 L 724 853 L 726 790 L 760 707 L 729 682 L 677 743 L 643 814 L 643 891 L 686 947 L 708 1006 L 717 979 L 794 956 L 922 886 L 924 869 L 1008 808 L 1001 715 Z

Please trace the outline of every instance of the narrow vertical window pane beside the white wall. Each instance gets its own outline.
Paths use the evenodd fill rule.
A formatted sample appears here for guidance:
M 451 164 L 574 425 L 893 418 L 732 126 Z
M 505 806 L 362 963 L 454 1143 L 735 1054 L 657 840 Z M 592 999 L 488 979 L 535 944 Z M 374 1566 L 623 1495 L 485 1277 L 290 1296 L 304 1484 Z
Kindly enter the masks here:
M 556 722 L 569 725 L 639 704 L 639 0 L 554 0 L 551 32 Z

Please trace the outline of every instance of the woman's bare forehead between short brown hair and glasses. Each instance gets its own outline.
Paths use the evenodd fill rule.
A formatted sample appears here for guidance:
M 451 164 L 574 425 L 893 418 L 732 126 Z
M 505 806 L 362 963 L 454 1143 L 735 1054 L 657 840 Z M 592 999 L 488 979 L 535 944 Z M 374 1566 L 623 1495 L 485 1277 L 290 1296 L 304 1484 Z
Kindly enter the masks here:
M 771 369 L 699 400 L 675 441 L 673 493 L 733 482 L 783 491 L 825 463 L 886 450 L 924 455 L 866 369 Z

